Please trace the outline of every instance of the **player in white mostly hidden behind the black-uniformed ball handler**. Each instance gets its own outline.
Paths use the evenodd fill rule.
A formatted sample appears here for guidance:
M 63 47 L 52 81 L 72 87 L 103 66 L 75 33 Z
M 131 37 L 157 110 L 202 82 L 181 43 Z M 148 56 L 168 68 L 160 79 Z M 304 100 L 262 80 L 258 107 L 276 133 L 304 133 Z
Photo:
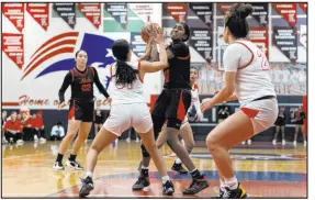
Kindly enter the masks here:
M 187 152 L 190 154 L 192 152 L 192 148 L 194 146 L 194 141 L 193 141 L 193 132 L 191 130 L 190 123 L 189 122 L 199 122 L 201 120 L 202 113 L 200 109 L 200 100 L 199 100 L 199 89 L 195 84 L 195 80 L 198 78 L 198 69 L 195 67 L 190 68 L 190 85 L 191 85 L 191 104 L 190 108 L 188 109 L 187 115 L 184 120 L 181 123 L 179 133 L 180 136 L 183 140 L 183 145 L 187 149 Z M 166 123 L 159 133 L 159 137 L 156 142 L 157 146 L 160 147 L 164 143 L 165 137 L 167 136 L 166 132 Z M 188 171 L 182 167 L 182 162 L 180 158 L 177 158 L 176 162 L 173 163 L 172 170 L 178 171 L 180 174 L 187 174 Z

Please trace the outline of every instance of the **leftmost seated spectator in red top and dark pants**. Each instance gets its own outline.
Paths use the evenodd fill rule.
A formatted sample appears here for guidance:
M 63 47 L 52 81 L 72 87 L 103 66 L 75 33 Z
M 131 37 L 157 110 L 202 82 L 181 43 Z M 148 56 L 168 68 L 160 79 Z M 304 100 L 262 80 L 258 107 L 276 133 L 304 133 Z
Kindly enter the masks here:
M 23 143 L 22 125 L 16 120 L 15 111 L 11 113 L 10 120 L 5 122 L 3 131 L 4 131 L 5 140 L 9 141 L 10 144 Z

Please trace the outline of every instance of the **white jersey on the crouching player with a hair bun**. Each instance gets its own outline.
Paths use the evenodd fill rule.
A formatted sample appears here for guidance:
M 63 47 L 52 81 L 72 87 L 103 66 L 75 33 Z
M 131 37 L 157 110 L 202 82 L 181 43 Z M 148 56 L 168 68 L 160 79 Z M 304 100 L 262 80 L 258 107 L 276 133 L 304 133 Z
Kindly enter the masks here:
M 237 71 L 235 92 L 240 105 L 263 96 L 274 96 L 266 55 L 250 41 L 236 41 L 224 53 L 225 71 Z

